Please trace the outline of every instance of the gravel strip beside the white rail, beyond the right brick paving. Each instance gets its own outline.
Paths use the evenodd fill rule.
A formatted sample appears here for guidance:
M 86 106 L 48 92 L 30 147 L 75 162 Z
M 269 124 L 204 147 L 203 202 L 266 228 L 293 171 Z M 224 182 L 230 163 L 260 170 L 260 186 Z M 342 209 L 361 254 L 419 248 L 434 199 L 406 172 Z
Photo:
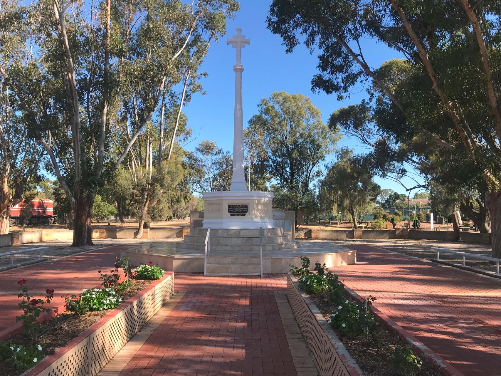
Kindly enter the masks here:
M 352 240 L 352 239 L 334 239 L 332 240 L 346 248 L 351 248 L 354 244 L 368 245 L 384 248 L 389 251 L 403 253 L 406 255 L 419 257 L 422 259 L 436 259 L 437 253 L 432 247 L 447 248 L 453 251 L 468 252 L 474 255 L 491 256 L 491 247 L 485 244 L 471 244 L 459 242 L 443 242 L 440 240 Z M 454 254 L 440 253 L 440 259 L 462 264 L 462 257 Z M 466 259 L 466 266 L 484 269 L 495 272 L 495 263 L 483 260 Z

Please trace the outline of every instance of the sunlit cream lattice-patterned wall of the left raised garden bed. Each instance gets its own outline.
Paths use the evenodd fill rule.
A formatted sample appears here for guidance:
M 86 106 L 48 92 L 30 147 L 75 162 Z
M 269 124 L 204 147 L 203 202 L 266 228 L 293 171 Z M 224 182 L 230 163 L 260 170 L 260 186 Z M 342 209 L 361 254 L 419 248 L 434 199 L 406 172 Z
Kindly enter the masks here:
M 174 273 L 115 308 L 24 376 L 95 376 L 174 294 Z

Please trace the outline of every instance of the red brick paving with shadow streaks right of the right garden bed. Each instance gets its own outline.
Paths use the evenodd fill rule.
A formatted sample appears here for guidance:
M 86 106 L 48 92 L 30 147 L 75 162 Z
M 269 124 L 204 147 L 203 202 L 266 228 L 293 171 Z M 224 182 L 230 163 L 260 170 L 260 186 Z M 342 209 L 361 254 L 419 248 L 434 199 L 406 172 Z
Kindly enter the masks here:
M 357 264 L 333 268 L 346 286 L 375 296 L 380 311 L 465 375 L 501 375 L 501 279 L 351 247 Z

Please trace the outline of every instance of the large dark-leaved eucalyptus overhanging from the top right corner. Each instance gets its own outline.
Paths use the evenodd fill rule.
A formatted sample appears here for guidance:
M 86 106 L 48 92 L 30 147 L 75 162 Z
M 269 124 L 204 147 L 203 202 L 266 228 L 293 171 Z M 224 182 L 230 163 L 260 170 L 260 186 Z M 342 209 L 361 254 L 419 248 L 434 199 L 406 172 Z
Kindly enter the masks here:
M 500 14 L 495 0 L 274 0 L 268 18 L 288 52 L 300 35 L 312 51 L 319 47 L 321 72 L 314 88 L 343 97 L 358 82 L 372 82 L 384 94 L 381 106 L 404 117 L 410 131 L 480 172 L 496 257 L 501 257 Z M 412 98 L 423 116 L 414 118 L 367 63 L 360 44 L 365 37 L 399 51 L 427 86 Z M 443 121 L 421 122 L 426 115 Z

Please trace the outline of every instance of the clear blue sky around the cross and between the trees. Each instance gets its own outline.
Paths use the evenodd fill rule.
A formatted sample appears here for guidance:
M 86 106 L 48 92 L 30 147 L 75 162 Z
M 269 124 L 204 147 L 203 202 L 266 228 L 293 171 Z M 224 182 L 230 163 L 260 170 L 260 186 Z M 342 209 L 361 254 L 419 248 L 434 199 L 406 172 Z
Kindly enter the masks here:
M 351 97 L 342 102 L 333 95 L 311 90 L 311 79 L 317 72 L 317 54 L 310 54 L 304 46 L 298 46 L 293 54 L 286 54 L 282 40 L 266 28 L 269 1 L 241 0 L 240 11 L 233 20 L 228 21 L 227 34 L 212 43 L 202 66 L 208 76 L 201 80 L 205 95 L 196 94 L 184 108 L 193 138 L 186 145 L 192 150 L 201 140 L 215 140 L 223 149 L 233 150 L 233 101 L 235 49 L 226 45 L 226 38 L 235 34 L 235 29 L 242 29 L 245 38 L 250 38 L 250 46 L 242 49 L 242 92 L 243 123 L 257 112 L 257 105 L 264 97 L 274 91 L 286 91 L 290 94 L 301 93 L 310 97 L 313 104 L 322 111 L 322 118 L 327 121 L 330 114 L 340 107 L 357 104 L 367 97 L 365 88 L 359 86 Z M 386 60 L 401 58 L 394 50 L 365 40 L 362 43 L 367 62 L 372 67 L 379 67 Z M 343 146 L 353 148 L 357 153 L 367 152 L 355 140 L 343 138 Z M 390 180 L 376 178 L 382 188 L 404 192 L 403 188 Z M 410 179 L 404 181 L 413 186 Z

